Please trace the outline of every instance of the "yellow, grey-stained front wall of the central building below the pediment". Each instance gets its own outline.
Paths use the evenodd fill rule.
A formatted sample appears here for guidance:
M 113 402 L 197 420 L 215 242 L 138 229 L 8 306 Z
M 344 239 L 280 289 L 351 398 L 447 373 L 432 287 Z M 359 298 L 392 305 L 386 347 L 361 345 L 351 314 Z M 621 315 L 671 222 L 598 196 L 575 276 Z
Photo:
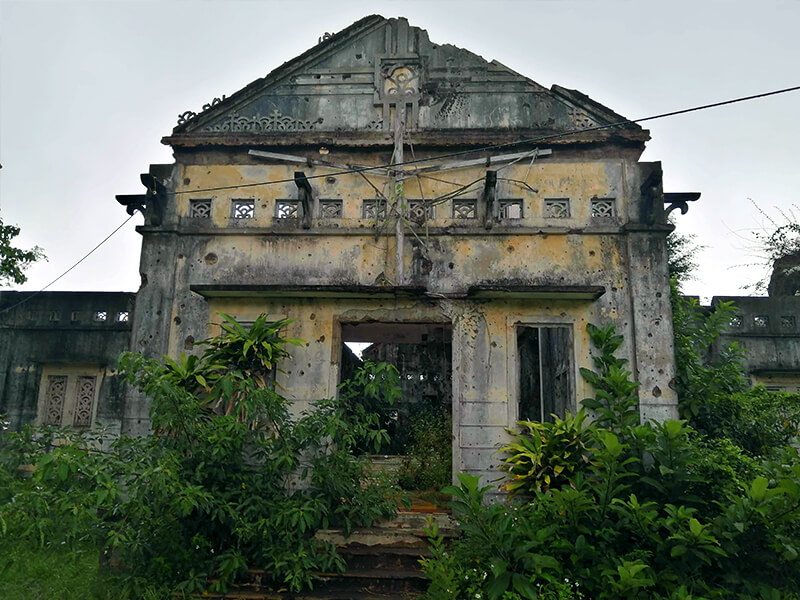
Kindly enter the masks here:
M 369 164 L 384 158 L 343 154 L 337 160 Z M 580 367 L 592 367 L 586 324 L 615 323 L 625 336 L 620 353 L 643 383 L 643 416 L 674 416 L 668 227 L 640 218 L 646 201 L 639 192 L 641 169 L 624 152 L 584 160 L 554 152 L 533 167 L 526 161 L 500 170 L 497 197 L 521 199 L 522 218 L 493 220 L 488 230 L 480 219 L 453 219 L 451 200 L 434 203 L 432 218 L 406 225 L 402 282 L 394 219 L 361 218 L 362 202 L 378 195 L 364 177 L 312 179 L 315 200 L 340 199 L 343 212 L 303 229 L 300 219 L 275 218 L 276 201 L 297 198 L 294 183 L 192 192 L 291 179 L 293 168 L 251 164 L 252 158 L 233 152 L 178 158 L 172 182 L 179 193 L 167 205 L 164 224 L 141 229 L 147 284 L 136 316 L 137 348 L 153 355 L 191 351 L 193 341 L 214 332 L 210 324 L 218 312 L 242 320 L 261 313 L 294 319 L 287 335 L 306 345 L 292 350 L 279 383 L 303 410 L 336 393 L 340 323 L 451 323 L 454 465 L 488 475 L 505 428 L 517 418 L 515 327 L 571 329 L 577 408 L 580 398 L 591 395 L 578 374 Z M 198 164 L 212 159 L 224 164 Z M 331 171 L 304 167 L 308 176 Z M 411 199 L 437 198 L 480 182 L 485 173 L 465 168 L 434 174 L 451 184 L 409 177 L 404 191 Z M 385 178 L 367 177 L 390 195 Z M 462 197 L 480 205 L 482 190 L 481 183 Z M 243 198 L 255 201 L 254 218 L 233 219 L 231 202 Z M 597 198 L 614 201 L 614 216 L 592 216 Z M 209 218 L 190 216 L 193 199 L 212 200 Z M 549 199 L 568 199 L 570 216 L 548 216 Z M 145 314 L 143 306 L 152 308 Z M 131 431 L 142 431 L 145 403 L 131 409 Z

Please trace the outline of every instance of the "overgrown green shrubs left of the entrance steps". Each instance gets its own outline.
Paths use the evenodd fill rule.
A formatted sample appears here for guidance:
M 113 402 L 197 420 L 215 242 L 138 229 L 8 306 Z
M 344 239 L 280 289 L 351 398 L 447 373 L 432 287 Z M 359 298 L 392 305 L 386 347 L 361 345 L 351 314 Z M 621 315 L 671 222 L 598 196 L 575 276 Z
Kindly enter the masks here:
M 5 434 L 0 543 L 95 548 L 116 571 L 116 597 L 224 592 L 248 568 L 297 591 L 315 572 L 341 571 L 314 534 L 394 513 L 394 488 L 356 451 L 379 447 L 386 432 L 346 391 L 291 414 L 274 384 L 294 342 L 281 336 L 285 324 L 262 316 L 246 330 L 225 317 L 200 356 L 124 355 L 120 371 L 152 399 L 152 435 L 100 451 L 96 435 L 69 430 Z M 391 389 L 391 371 L 382 374 Z M 19 470 L 26 464 L 32 471 Z

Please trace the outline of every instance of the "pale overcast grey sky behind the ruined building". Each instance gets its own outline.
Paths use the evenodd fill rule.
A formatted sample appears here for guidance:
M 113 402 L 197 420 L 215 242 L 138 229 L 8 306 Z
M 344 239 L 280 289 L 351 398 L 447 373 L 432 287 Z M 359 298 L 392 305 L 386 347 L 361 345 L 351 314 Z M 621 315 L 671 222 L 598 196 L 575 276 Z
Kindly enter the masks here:
M 800 1 L 0 0 L 0 210 L 60 275 L 127 215 L 115 194 L 172 162 L 160 143 L 185 110 L 252 80 L 366 14 L 405 16 L 628 118 L 800 85 Z M 749 231 L 800 204 L 800 92 L 653 121 L 643 160 L 666 191 L 700 191 L 679 230 L 707 246 L 689 293 L 748 293 Z M 136 290 L 134 217 L 51 290 Z

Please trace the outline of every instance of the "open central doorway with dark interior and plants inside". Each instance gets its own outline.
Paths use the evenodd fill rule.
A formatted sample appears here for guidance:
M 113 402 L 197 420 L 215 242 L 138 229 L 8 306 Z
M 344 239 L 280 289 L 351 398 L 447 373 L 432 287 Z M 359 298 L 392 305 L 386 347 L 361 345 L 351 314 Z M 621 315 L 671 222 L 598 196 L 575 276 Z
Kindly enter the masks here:
M 447 323 L 342 323 L 340 382 L 365 362 L 400 375 L 400 397 L 386 409 L 381 448 L 401 487 L 437 491 L 452 480 L 452 328 Z

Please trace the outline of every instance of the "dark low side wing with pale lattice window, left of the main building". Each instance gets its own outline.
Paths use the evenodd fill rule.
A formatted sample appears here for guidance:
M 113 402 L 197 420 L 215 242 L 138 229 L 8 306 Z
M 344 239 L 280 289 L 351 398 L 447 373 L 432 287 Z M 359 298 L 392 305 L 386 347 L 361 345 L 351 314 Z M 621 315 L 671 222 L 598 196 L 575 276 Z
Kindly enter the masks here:
M 23 424 L 118 433 L 135 294 L 0 292 L 0 415 Z

